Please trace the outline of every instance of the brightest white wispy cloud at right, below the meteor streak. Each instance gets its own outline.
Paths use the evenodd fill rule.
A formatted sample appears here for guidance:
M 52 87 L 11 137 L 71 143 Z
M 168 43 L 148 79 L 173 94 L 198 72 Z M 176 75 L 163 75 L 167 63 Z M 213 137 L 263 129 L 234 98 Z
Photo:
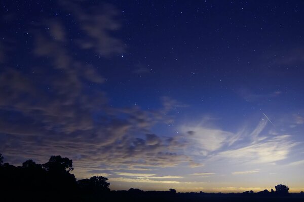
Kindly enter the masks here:
M 266 130 L 267 123 L 262 120 L 251 131 L 248 127 L 243 127 L 236 133 L 204 125 L 183 126 L 184 141 L 187 144 L 185 154 L 192 155 L 198 163 L 205 165 L 216 162 L 272 164 L 287 159 L 298 142 L 292 141 L 287 134 L 274 135 L 272 130 Z M 192 131 L 191 134 L 188 131 Z

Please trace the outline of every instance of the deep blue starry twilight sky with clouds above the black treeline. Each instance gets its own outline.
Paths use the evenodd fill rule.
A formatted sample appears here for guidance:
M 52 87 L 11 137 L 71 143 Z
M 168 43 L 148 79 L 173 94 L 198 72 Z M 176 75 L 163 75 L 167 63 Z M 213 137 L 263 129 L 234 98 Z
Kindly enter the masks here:
M 111 190 L 304 190 L 303 1 L 0 3 L 0 153 Z

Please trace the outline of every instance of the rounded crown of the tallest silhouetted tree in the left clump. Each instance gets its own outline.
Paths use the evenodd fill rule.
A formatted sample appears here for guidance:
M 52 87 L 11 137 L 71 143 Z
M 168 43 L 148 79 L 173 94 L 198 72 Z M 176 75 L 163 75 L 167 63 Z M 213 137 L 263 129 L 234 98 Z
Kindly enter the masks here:
M 73 161 L 61 156 L 52 156 L 49 162 L 42 165 L 48 172 L 69 173 L 73 170 Z

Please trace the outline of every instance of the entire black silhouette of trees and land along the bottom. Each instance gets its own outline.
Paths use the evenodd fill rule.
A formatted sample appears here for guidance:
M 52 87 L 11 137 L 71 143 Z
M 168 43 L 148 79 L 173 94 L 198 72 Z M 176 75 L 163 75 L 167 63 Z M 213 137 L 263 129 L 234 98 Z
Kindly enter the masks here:
M 45 164 L 27 160 L 16 167 L 4 163 L 0 154 L 0 201 L 304 201 L 304 192 L 289 193 L 283 184 L 256 193 L 110 191 L 106 177 L 77 180 L 72 170 L 72 160 L 61 156 L 51 156 Z

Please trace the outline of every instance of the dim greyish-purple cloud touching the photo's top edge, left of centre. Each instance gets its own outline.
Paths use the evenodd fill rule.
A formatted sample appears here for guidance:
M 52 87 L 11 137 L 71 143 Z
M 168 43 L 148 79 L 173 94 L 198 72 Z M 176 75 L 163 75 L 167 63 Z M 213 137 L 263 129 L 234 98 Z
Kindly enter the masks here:
M 93 49 L 105 57 L 125 51 L 123 41 L 112 36 L 112 32 L 117 32 L 122 27 L 118 20 L 119 11 L 114 6 L 101 4 L 85 10 L 82 9 L 81 2 L 60 1 L 60 4 L 77 17 L 80 29 L 85 33 L 85 36 L 77 39 L 81 48 Z

